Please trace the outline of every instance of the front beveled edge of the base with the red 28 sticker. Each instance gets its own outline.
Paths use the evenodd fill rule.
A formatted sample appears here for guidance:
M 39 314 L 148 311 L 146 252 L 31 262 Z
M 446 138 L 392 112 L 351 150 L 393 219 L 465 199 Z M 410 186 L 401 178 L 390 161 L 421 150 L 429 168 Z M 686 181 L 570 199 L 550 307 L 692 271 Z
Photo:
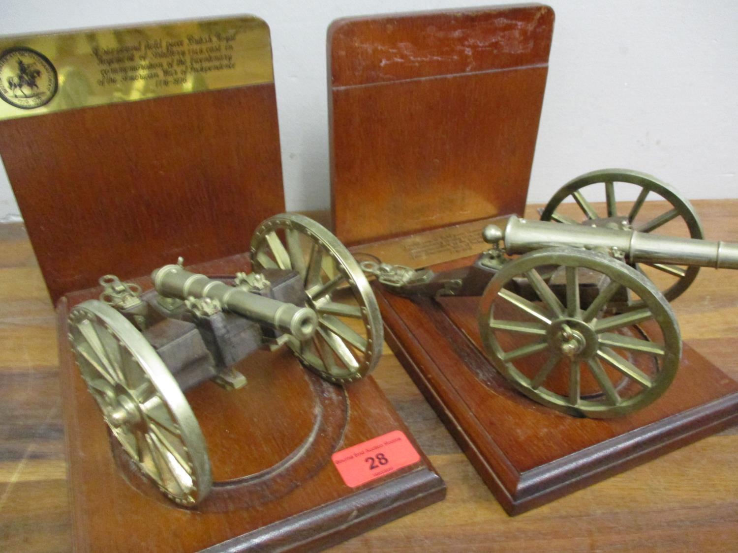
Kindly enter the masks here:
M 362 490 L 352 495 L 351 501 L 333 501 L 203 551 L 320 551 L 445 497 L 446 484 L 441 477 L 428 467 L 421 467 L 399 479 Z

